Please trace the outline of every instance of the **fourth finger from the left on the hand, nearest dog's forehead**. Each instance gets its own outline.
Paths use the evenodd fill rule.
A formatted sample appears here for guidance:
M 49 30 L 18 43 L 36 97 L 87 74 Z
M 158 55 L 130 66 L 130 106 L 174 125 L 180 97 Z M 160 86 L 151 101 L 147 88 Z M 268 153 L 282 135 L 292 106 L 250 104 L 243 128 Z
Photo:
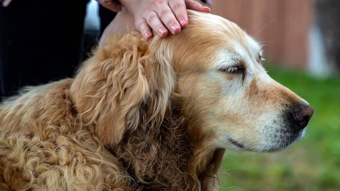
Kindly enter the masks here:
M 173 14 L 176 16 L 177 21 L 181 25 L 182 29 L 187 27 L 188 18 L 187 18 L 187 7 L 183 0 L 170 0 L 169 1 L 170 8 Z

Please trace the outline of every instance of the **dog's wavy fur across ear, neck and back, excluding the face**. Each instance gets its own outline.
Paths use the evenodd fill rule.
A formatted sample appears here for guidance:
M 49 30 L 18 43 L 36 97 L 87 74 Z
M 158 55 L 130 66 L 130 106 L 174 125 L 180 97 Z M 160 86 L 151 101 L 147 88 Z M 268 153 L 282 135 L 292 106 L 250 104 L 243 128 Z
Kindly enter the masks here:
M 2 103 L 0 190 L 213 190 L 224 149 L 183 115 L 159 41 L 111 38 L 75 79 Z

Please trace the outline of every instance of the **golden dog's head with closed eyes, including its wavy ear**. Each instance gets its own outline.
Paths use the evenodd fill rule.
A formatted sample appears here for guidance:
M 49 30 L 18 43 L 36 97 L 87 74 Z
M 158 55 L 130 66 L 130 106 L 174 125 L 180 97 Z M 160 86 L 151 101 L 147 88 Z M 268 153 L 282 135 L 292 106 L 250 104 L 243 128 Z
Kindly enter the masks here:
M 161 124 L 173 100 L 208 146 L 274 151 L 301 138 L 313 110 L 269 77 L 261 46 L 220 16 L 188 14 L 179 35 L 131 33 L 95 52 L 71 87 L 85 123 L 114 145 L 140 121 Z

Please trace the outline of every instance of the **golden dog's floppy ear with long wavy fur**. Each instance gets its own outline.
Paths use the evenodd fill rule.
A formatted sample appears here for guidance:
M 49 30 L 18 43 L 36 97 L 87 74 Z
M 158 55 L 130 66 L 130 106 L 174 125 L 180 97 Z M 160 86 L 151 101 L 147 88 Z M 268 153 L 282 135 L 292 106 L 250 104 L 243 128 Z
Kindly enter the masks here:
M 112 146 L 145 123 L 161 123 L 173 87 L 170 63 L 157 60 L 140 35 L 129 34 L 95 51 L 80 68 L 71 97 L 83 123 Z

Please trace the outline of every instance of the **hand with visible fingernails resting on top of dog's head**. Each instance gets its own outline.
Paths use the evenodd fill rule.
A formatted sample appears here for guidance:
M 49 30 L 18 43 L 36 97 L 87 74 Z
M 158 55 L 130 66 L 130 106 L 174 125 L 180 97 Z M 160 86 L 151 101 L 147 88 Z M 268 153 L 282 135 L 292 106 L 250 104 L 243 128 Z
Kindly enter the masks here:
M 210 9 L 195 0 L 120 0 L 134 16 L 136 29 L 146 40 L 156 32 L 166 37 L 170 31 L 178 34 L 187 27 L 187 9 L 210 12 Z

